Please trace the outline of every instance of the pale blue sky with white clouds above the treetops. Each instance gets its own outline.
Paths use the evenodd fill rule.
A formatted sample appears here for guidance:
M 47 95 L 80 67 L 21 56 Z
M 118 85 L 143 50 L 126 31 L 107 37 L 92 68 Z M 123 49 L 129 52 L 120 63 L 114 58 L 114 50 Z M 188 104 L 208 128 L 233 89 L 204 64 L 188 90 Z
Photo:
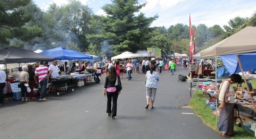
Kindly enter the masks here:
M 33 0 L 41 9 L 47 10 L 51 3 L 58 6 L 67 4 L 68 0 Z M 92 8 L 94 14 L 104 15 L 101 9 L 105 4 L 111 4 L 111 0 L 80 0 L 82 4 Z M 235 17 L 250 18 L 256 12 L 255 0 L 139 0 L 139 3 L 147 3 L 140 12 L 145 17 L 158 15 L 158 19 L 152 22 L 151 27 L 165 26 L 182 23 L 189 25 L 189 13 L 192 25 L 205 24 L 228 25 L 228 21 Z

